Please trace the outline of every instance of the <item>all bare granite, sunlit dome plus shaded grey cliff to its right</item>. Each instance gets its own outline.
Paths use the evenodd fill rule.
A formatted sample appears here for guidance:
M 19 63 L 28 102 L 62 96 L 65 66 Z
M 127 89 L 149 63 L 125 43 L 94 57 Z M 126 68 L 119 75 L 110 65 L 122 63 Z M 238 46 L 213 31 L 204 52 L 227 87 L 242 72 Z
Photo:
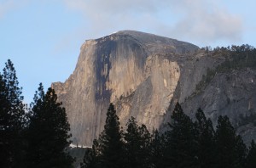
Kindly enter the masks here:
M 73 143 L 91 145 L 103 130 L 109 103 L 115 104 L 124 127 L 134 116 L 151 131 L 164 129 L 177 101 L 192 117 L 201 107 L 215 125 L 218 115 L 229 115 L 236 124 L 256 103 L 256 71 L 218 74 L 190 98 L 207 68 L 224 61 L 199 51 L 188 42 L 138 31 L 84 42 L 73 74 L 52 84 L 67 109 Z M 256 129 L 247 125 L 238 132 L 247 136 Z

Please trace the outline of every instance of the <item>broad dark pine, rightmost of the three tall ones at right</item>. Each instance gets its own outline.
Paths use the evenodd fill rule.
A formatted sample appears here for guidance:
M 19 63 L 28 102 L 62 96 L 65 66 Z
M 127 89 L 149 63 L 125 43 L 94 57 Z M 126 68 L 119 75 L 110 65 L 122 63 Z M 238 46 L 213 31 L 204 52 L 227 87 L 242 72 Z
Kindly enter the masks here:
M 246 146 L 240 136 L 236 136 L 234 127 L 227 116 L 218 117 L 216 130 L 217 167 L 243 167 Z

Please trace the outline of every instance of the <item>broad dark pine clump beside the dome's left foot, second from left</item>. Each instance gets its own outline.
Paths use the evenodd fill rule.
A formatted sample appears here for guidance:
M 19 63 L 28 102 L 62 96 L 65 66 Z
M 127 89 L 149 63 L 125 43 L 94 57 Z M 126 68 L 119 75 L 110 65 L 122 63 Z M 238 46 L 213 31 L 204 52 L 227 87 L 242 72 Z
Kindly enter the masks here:
M 34 97 L 27 131 L 28 167 L 70 168 L 73 158 L 67 154 L 70 142 L 70 126 L 66 110 L 56 102 L 57 96 L 51 88 L 44 94 L 40 83 Z

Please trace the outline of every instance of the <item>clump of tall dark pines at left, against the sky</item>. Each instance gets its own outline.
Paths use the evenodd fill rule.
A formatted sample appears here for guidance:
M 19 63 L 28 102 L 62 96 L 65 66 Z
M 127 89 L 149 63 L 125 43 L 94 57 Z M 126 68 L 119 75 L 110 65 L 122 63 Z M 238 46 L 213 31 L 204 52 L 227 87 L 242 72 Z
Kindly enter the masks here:
M 0 167 L 50 168 L 73 166 L 66 111 L 51 88 L 40 83 L 31 108 L 23 104 L 14 64 L 0 73 Z

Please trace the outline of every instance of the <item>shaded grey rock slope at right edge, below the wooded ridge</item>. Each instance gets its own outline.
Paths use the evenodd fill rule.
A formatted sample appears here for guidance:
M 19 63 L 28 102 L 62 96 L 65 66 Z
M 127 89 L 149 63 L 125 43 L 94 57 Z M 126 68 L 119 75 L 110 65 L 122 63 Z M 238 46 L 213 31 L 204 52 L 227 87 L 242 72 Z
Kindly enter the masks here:
M 244 116 L 255 113 L 255 80 L 256 70 L 252 69 L 218 73 L 203 92 L 183 102 L 183 109 L 193 117 L 201 107 L 215 126 L 219 115 L 228 115 L 237 133 L 248 144 L 256 137 L 256 128 L 252 123 L 241 122 Z

